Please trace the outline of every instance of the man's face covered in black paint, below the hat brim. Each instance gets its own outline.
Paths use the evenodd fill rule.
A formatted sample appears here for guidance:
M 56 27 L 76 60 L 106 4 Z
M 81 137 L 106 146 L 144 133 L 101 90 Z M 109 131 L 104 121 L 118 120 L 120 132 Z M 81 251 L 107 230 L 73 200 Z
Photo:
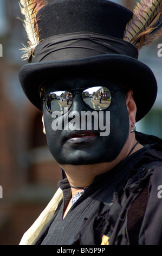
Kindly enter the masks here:
M 86 104 L 81 94 L 85 90 L 83 88 L 89 87 L 108 88 L 112 92 L 111 97 L 103 99 L 102 91 L 102 102 L 111 100 L 109 107 L 97 111 L 89 103 Z M 45 104 L 43 107 L 48 147 L 59 164 L 111 162 L 119 155 L 129 131 L 128 111 L 121 87 L 108 81 L 108 78 L 98 76 L 58 79 L 47 83 L 45 88 L 45 96 L 65 90 L 73 94 L 73 102 L 63 115 L 63 106 L 66 106 L 63 94 L 59 95 L 60 99 L 56 95 L 57 107 L 52 110 L 57 112 L 50 114 L 49 107 Z M 89 96 L 89 102 L 94 106 L 103 104 L 99 99 L 96 101 L 96 94 Z M 86 113 L 89 113 L 90 119 L 86 118 Z

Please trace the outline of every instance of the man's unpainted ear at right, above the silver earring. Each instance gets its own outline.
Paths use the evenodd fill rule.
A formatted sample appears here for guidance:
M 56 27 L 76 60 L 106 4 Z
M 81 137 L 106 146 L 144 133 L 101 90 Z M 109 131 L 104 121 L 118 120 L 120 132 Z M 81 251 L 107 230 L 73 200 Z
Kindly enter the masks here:
M 133 99 L 133 92 L 130 89 L 127 93 L 126 105 L 128 109 L 129 121 L 135 123 L 135 115 L 137 112 L 137 107 Z

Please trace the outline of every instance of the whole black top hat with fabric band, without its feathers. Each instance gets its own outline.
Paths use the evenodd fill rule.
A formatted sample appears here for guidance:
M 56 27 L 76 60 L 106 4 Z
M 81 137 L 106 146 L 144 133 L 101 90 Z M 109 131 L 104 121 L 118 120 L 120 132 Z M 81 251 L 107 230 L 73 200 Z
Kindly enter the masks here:
M 38 13 L 40 43 L 30 64 L 20 70 L 20 83 L 39 109 L 41 84 L 66 74 L 106 74 L 133 89 L 137 121 L 153 106 L 157 82 L 137 49 L 123 39 L 133 13 L 107 0 L 55 0 Z

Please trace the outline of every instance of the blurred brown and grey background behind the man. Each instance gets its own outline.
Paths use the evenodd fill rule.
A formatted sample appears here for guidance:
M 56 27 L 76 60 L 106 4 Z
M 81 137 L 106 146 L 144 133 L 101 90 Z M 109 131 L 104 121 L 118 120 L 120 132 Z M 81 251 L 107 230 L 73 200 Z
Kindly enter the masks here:
M 48 1 L 52 2 L 52 1 Z M 136 0 L 113 1 L 133 10 Z M 25 97 L 18 71 L 27 34 L 18 0 L 0 0 L 0 245 L 18 245 L 24 232 L 41 214 L 57 190 L 61 170 L 51 156 L 42 132 L 42 114 Z M 154 107 L 137 123 L 137 130 L 162 138 L 162 36 L 140 51 L 158 82 Z M 139 92 L 140 93 L 140 92 Z M 145 96 L 145 95 L 144 95 Z

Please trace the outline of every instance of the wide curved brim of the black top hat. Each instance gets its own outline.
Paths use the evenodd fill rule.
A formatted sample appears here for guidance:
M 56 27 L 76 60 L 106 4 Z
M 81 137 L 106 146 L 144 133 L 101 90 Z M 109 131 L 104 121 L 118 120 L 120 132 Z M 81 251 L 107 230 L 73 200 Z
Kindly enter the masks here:
M 47 79 L 85 74 L 105 74 L 109 80 L 118 78 L 131 88 L 137 105 L 136 121 L 150 111 L 157 96 L 157 81 L 151 69 L 137 59 L 119 54 L 26 64 L 19 72 L 19 79 L 25 95 L 41 109 L 39 88 Z

